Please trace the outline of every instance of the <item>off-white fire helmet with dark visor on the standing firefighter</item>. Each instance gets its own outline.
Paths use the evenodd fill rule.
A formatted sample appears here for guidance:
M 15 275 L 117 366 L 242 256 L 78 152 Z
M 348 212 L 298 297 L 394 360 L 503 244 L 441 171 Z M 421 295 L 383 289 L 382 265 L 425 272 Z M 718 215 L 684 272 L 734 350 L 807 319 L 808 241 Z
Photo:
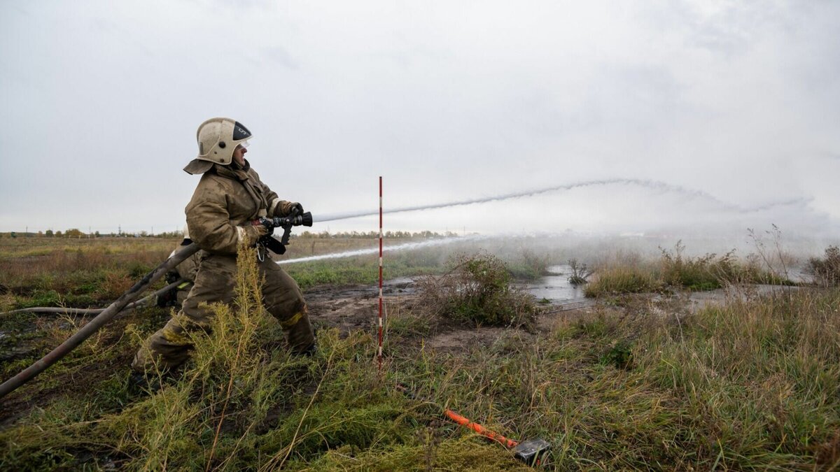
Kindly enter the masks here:
M 252 136 L 248 128 L 234 119 L 210 118 L 198 127 L 198 155 L 184 170 L 190 174 L 201 174 L 213 164 L 228 165 L 234 159 L 236 146 Z

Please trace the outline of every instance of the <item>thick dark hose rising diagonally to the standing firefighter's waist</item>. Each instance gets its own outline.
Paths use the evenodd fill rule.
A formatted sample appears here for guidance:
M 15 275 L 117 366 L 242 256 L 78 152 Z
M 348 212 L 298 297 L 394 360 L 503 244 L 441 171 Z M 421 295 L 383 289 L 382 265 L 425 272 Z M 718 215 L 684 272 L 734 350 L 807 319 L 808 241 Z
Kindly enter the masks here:
M 151 284 L 158 281 L 167 271 L 174 269 L 176 265 L 181 264 L 183 260 L 190 257 L 192 254 L 198 252 L 198 246 L 193 243 L 183 249 L 178 250 L 172 254 L 169 259 L 165 260 L 163 264 L 158 265 L 157 269 L 152 270 L 149 274 L 144 276 L 139 282 L 134 284 L 129 291 L 123 293 L 115 302 L 105 308 L 101 313 L 94 317 L 89 323 L 76 331 L 64 343 L 46 354 L 40 360 L 30 365 L 24 370 L 21 370 L 18 375 L 15 375 L 9 380 L 0 385 L 0 398 L 7 396 L 9 393 L 17 389 L 20 385 L 24 385 L 31 380 L 35 375 L 39 375 L 46 370 L 50 365 L 58 362 L 59 359 L 69 354 L 76 346 L 81 344 L 85 339 L 89 338 L 93 333 L 96 333 L 99 328 L 102 328 L 106 323 L 111 321 L 111 318 L 122 311 L 129 303 L 134 302 L 143 291 Z

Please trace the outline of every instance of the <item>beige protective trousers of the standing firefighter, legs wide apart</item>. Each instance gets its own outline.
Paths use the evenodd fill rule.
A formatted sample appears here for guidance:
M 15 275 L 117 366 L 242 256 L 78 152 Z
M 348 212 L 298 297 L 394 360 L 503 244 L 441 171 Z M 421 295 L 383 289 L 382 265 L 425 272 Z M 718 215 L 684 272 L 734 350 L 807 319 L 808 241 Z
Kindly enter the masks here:
M 266 257 L 257 262 L 260 275 L 265 278 L 262 286 L 265 309 L 277 318 L 286 332 L 286 340 L 296 352 L 306 352 L 315 344 L 315 335 L 307 315 L 301 289 L 294 279 L 273 260 Z M 171 317 L 168 323 L 146 339 L 140 347 L 131 367 L 134 370 L 149 370 L 156 361 L 161 370 L 172 370 L 189 358 L 192 341 L 189 333 L 207 331 L 213 312 L 199 307 L 202 302 L 234 301 L 236 256 L 204 253 L 195 285 L 181 306 L 181 311 Z

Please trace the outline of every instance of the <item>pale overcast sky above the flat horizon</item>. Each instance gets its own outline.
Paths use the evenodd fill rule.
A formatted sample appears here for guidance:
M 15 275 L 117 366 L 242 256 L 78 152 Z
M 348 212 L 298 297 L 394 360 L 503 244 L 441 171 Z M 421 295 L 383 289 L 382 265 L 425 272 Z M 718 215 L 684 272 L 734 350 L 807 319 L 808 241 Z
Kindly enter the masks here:
M 838 45 L 836 1 L 3 0 L 0 231 L 181 228 L 227 116 L 316 215 L 635 182 L 386 229 L 837 237 Z

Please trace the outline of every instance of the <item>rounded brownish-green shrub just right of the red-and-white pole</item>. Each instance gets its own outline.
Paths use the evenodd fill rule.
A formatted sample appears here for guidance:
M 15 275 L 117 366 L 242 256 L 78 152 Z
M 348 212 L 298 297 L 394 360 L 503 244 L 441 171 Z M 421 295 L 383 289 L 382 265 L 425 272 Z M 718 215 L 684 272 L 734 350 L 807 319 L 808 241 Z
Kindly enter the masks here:
M 511 286 L 507 267 L 487 253 L 460 255 L 454 268 L 435 279 L 421 279 L 423 305 L 434 314 L 477 324 L 533 324 L 536 307 L 527 293 Z

